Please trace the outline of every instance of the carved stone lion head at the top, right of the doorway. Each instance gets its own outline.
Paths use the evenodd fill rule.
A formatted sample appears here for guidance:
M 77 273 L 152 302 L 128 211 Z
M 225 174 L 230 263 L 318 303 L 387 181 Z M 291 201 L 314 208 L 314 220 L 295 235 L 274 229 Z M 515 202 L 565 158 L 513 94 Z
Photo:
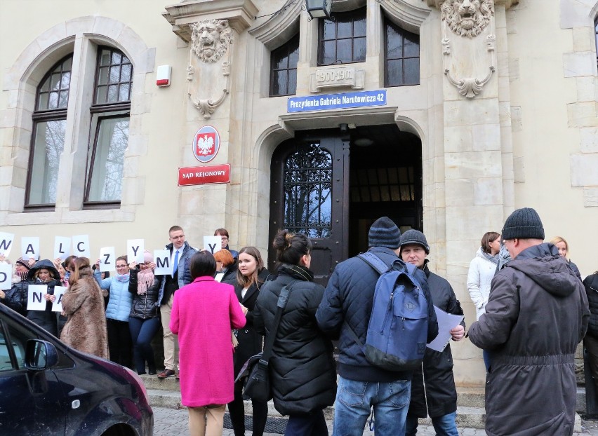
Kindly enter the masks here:
M 444 0 L 442 20 L 453 32 L 472 38 L 481 34 L 494 15 L 493 0 Z

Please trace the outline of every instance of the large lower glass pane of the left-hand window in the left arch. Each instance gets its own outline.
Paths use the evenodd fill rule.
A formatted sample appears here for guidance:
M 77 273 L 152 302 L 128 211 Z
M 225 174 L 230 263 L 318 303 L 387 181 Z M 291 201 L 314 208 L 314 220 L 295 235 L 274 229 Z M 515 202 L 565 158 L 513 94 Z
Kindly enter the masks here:
M 56 203 L 60 154 L 65 147 L 66 120 L 44 121 L 36 124 L 32 150 L 29 205 Z

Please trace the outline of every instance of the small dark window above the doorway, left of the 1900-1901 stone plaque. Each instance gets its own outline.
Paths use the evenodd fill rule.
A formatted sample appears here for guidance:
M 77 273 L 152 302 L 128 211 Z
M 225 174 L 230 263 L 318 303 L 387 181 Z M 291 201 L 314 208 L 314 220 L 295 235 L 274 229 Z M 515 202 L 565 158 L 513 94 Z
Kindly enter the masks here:
M 297 92 L 299 34 L 276 50 L 270 58 L 270 97 L 294 95 Z

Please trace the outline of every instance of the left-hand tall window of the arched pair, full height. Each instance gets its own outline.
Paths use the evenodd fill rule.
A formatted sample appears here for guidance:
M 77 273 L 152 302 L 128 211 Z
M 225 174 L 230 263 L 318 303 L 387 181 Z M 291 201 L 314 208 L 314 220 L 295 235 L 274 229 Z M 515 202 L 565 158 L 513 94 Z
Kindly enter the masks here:
M 60 155 L 65 147 L 72 54 L 55 64 L 37 88 L 33 113 L 25 208 L 47 208 L 56 203 Z

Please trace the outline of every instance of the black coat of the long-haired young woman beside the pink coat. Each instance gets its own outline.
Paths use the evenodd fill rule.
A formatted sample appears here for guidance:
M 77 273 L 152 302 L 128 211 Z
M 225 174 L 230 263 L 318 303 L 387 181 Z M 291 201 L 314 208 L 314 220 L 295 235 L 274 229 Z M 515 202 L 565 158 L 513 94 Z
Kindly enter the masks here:
M 235 379 L 237 378 L 237 375 L 239 375 L 239 372 L 241 372 L 241 367 L 243 367 L 243 364 L 247 362 L 249 357 L 262 352 L 263 336 L 255 331 L 255 327 L 253 325 L 255 320 L 255 312 L 253 310 L 255 308 L 255 301 L 258 301 L 260 288 L 263 287 L 268 275 L 270 275 L 270 273 L 266 268 L 260 271 L 258 274 L 258 283 L 251 285 L 247 289 L 245 297 L 241 297 L 241 291 L 243 290 L 243 287 L 241 287 L 239 283 L 234 285 L 234 293 L 237 294 L 237 299 L 239 299 L 243 306 L 248 308 L 248 312 L 245 315 L 247 320 L 245 327 L 236 330 L 239 346 L 234 349 L 233 355 Z

